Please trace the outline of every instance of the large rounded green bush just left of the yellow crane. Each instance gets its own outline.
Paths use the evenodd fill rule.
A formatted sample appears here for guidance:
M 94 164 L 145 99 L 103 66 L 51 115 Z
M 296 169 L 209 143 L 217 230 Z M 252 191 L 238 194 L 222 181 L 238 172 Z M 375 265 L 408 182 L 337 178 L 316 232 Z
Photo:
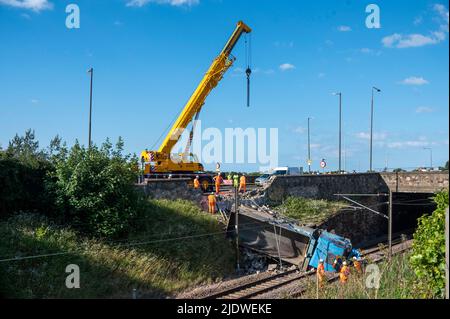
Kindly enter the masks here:
M 134 187 L 137 162 L 122 156 L 107 140 L 101 148 L 86 149 L 78 142 L 67 155 L 56 159 L 47 182 L 58 213 L 66 223 L 100 237 L 127 233 L 139 215 L 142 198 Z

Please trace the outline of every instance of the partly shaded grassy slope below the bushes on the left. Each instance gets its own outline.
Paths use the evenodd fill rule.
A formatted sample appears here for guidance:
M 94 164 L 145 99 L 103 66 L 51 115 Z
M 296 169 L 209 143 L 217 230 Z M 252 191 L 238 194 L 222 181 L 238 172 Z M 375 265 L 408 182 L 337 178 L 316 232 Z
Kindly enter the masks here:
M 136 288 L 143 297 L 158 298 L 233 272 L 234 250 L 223 228 L 193 203 L 149 201 L 138 229 L 122 241 L 108 242 L 82 237 L 36 214 L 2 221 L 0 259 L 70 253 L 0 262 L 0 295 L 129 298 Z M 80 268 L 79 289 L 66 288 L 69 264 Z

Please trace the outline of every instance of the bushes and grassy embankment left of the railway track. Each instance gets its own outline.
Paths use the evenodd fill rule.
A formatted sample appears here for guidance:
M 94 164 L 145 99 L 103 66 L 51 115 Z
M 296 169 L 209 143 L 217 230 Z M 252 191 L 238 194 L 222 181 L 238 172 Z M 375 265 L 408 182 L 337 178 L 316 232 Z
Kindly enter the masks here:
M 0 150 L 1 296 L 130 297 L 136 288 L 161 297 L 233 271 L 217 220 L 190 202 L 146 200 L 122 149 L 121 139 L 86 149 L 56 137 L 41 150 L 27 131 Z M 69 264 L 80 289 L 66 288 Z

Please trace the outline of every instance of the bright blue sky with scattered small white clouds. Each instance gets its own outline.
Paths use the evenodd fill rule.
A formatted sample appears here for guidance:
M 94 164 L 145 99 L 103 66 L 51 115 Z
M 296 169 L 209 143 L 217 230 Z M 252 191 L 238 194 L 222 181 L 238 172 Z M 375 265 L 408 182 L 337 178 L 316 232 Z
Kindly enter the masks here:
M 80 8 L 67 29 L 65 8 Z M 368 29 L 365 8 L 380 7 Z M 35 129 L 87 141 L 89 67 L 93 140 L 150 148 L 180 111 L 238 20 L 252 32 L 252 101 L 245 105 L 245 46 L 207 99 L 202 126 L 279 129 L 279 164 L 337 168 L 343 94 L 345 168 L 367 170 L 371 87 L 374 167 L 448 160 L 448 2 L 269 0 L 0 0 L 0 144 Z M 210 167 L 208 167 L 210 168 Z M 257 165 L 224 169 L 255 170 Z

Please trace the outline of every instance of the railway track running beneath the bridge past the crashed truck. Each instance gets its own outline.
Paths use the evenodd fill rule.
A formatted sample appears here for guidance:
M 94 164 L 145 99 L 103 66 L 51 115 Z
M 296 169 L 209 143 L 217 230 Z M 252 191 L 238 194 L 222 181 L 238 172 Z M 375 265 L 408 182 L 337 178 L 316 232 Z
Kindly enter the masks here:
M 393 255 L 406 251 L 411 247 L 411 240 L 402 242 L 400 239 L 393 241 Z M 383 247 L 376 247 L 364 250 L 363 256 L 373 263 L 380 262 L 386 258 L 386 251 Z M 297 282 L 299 289 L 290 294 L 291 297 L 298 297 L 306 291 L 306 283 L 311 280 L 311 276 L 315 274 L 315 270 L 307 272 L 299 272 L 298 270 L 288 270 L 263 279 L 238 285 L 226 290 L 212 293 L 205 299 L 251 299 L 263 296 L 266 293 L 276 291 L 289 284 Z M 333 274 L 327 280 L 333 282 L 339 278 L 338 274 Z

